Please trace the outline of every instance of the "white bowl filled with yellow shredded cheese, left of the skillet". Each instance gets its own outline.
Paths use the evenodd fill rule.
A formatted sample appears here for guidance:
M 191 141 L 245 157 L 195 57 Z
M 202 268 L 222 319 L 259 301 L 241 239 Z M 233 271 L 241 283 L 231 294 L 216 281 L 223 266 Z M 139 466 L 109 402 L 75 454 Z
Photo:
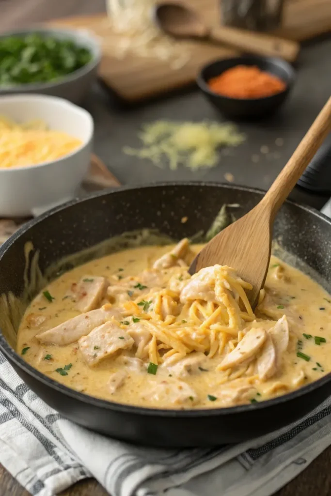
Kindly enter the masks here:
M 0 216 L 35 216 L 73 198 L 93 128 L 92 116 L 63 98 L 1 96 Z

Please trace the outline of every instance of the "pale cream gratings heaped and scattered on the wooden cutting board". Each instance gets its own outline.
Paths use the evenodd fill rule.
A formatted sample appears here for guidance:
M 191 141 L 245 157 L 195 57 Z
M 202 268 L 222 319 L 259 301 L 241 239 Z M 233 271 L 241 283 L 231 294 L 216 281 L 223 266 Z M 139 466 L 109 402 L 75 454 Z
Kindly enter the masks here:
M 115 55 L 123 59 L 128 53 L 141 58 L 169 62 L 180 69 L 191 58 L 186 43 L 178 43 L 165 35 L 153 22 L 151 9 L 157 0 L 107 0 L 112 31 L 118 35 Z M 108 40 L 104 40 L 107 44 Z

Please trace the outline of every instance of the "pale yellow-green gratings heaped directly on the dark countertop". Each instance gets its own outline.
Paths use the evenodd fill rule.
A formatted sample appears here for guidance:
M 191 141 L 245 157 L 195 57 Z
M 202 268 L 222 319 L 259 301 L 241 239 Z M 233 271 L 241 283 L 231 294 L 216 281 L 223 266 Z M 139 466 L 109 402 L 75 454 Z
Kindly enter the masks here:
M 180 164 L 191 170 L 214 167 L 219 147 L 237 146 L 245 140 L 234 124 L 216 122 L 156 121 L 145 124 L 138 137 L 142 148 L 124 147 L 124 153 L 149 159 L 159 167 L 166 160 L 172 170 Z

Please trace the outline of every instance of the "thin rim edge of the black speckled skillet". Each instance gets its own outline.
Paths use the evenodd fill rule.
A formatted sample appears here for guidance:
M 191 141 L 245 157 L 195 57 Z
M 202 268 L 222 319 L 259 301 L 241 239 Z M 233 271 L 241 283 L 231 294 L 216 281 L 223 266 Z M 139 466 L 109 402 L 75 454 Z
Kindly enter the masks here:
M 39 216 L 36 219 L 32 219 L 28 221 L 26 224 L 24 224 L 21 228 L 19 228 L 5 243 L 0 247 L 0 260 L 4 253 L 11 247 L 11 245 L 26 231 L 28 231 L 32 226 L 35 226 L 41 222 L 43 222 L 45 219 L 51 217 L 53 214 L 57 212 L 61 212 L 63 210 L 66 210 L 66 208 L 75 205 L 77 203 L 83 203 L 86 201 L 89 201 L 92 198 L 96 197 L 102 197 L 102 196 L 107 196 L 109 194 L 116 194 L 116 193 L 121 193 L 122 191 L 135 191 L 135 190 L 140 190 L 140 189 L 151 189 L 155 187 L 159 188 L 169 188 L 169 187 L 174 187 L 174 186 L 208 186 L 208 187 L 222 187 L 225 189 L 232 189 L 236 191 L 245 191 L 245 192 L 252 192 L 252 193 L 258 193 L 261 196 L 265 193 L 264 190 L 259 189 L 259 188 L 251 188 L 251 187 L 246 187 L 246 186 L 231 186 L 228 184 L 223 184 L 223 183 L 209 183 L 209 182 L 171 182 L 171 183 L 153 183 L 153 184 L 146 184 L 146 185 L 141 185 L 141 186 L 120 186 L 116 188 L 111 188 L 103 191 L 98 191 L 96 193 L 92 193 L 84 198 L 75 198 L 73 200 L 68 201 L 67 203 L 55 207 L 52 210 L 49 210 L 48 212 L 45 212 L 41 216 Z M 291 200 L 286 200 L 287 204 L 294 205 L 306 212 L 312 213 L 316 217 L 320 218 L 323 220 L 327 225 L 330 226 L 331 228 L 331 220 L 316 210 L 315 208 L 306 206 L 306 205 L 301 205 L 299 203 L 293 202 Z M 0 329 L 1 331 L 1 329 Z M 156 416 L 156 417 L 168 417 L 168 418 L 174 418 L 174 417 L 180 417 L 180 418 L 199 418 L 199 417 L 214 417 L 214 416 L 223 416 L 223 415 L 232 415 L 232 414 L 240 414 L 240 413 L 245 413 L 248 411 L 256 410 L 256 409 L 269 409 L 272 408 L 274 405 L 278 405 L 280 403 L 285 403 L 287 401 L 296 399 L 300 396 L 309 394 L 311 391 L 314 389 L 318 389 L 319 387 L 323 386 L 327 382 L 331 381 L 331 372 L 325 375 L 324 377 L 321 377 L 321 379 L 318 379 L 314 382 L 311 382 L 310 384 L 307 384 L 304 387 L 301 387 L 300 389 L 297 389 L 296 391 L 292 391 L 291 393 L 284 394 L 282 396 L 278 396 L 276 398 L 272 398 L 270 400 L 265 400 L 262 401 L 261 403 L 254 403 L 254 404 L 249 404 L 249 405 L 240 405 L 240 406 L 234 406 L 234 407 L 228 407 L 228 408 L 210 408 L 210 409 L 194 409 L 194 410 L 165 410 L 165 409 L 158 409 L 158 408 L 144 408 L 144 407 L 139 407 L 139 406 L 134 406 L 134 405 L 126 405 L 126 404 L 121 404 L 121 403 L 115 403 L 99 398 L 95 398 L 93 396 L 89 396 L 83 393 L 80 393 L 78 391 L 75 391 L 74 389 L 70 389 L 69 387 L 61 384 L 60 382 L 57 382 L 50 377 L 47 377 L 46 375 L 42 374 L 41 372 L 37 371 L 33 367 L 31 367 L 27 362 L 25 362 L 12 348 L 9 346 L 7 341 L 5 340 L 2 331 L 0 333 L 0 351 L 14 364 L 19 367 L 23 372 L 26 372 L 30 376 L 32 376 L 34 379 L 37 379 L 38 381 L 42 382 L 43 384 L 50 386 L 52 389 L 55 389 L 66 396 L 69 396 L 70 398 L 76 400 L 76 401 L 81 401 L 83 403 L 87 403 L 91 406 L 97 407 L 97 408 L 104 408 L 104 409 L 109 409 L 109 410 L 114 410 L 117 412 L 121 413 L 128 413 L 128 414 L 136 414 L 136 415 L 148 415 L 148 416 Z

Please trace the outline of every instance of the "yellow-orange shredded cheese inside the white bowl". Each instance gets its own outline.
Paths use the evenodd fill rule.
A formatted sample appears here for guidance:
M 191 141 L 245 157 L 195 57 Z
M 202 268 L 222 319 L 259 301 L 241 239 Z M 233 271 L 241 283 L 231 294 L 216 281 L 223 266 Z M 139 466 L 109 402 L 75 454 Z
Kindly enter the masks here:
M 78 148 L 81 140 L 47 129 L 43 121 L 16 124 L 0 117 L 0 168 L 28 167 L 57 160 Z

